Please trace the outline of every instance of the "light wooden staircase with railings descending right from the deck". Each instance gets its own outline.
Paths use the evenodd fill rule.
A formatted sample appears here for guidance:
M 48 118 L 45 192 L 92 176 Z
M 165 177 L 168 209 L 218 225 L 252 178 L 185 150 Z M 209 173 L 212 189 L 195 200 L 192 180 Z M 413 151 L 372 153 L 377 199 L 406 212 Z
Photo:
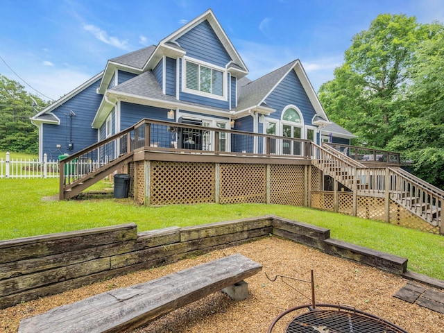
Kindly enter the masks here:
M 444 234 L 444 191 L 401 168 L 369 168 L 324 144 L 314 144 L 312 164 L 355 196 L 390 198 Z

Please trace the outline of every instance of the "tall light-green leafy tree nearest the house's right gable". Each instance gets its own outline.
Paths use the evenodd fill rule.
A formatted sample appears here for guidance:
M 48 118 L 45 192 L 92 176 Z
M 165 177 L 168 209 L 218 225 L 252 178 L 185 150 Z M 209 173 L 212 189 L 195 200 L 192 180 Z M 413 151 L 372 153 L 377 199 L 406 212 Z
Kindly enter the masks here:
M 414 17 L 378 15 L 367 31 L 352 38 L 334 80 L 321 86 L 319 98 L 327 114 L 358 135 L 360 144 L 385 148 L 399 133 L 418 28 Z

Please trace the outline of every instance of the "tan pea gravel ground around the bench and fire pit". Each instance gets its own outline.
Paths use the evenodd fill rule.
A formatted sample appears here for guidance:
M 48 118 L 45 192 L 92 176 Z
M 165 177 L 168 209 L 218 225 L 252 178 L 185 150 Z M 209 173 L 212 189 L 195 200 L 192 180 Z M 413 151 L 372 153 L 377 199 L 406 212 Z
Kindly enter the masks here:
M 270 277 L 287 275 L 309 280 L 311 269 L 314 270 L 318 303 L 350 305 L 391 321 L 409 333 L 443 332 L 443 314 L 393 297 L 396 291 L 404 287 L 407 280 L 278 237 L 216 250 L 168 266 L 130 273 L 2 309 L 0 332 L 17 332 L 22 318 L 40 314 L 53 307 L 110 289 L 146 282 L 234 253 L 241 253 L 263 265 L 261 272 L 246 280 L 249 289 L 246 300 L 233 302 L 225 294 L 217 292 L 162 316 L 133 333 L 267 332 L 268 326 L 282 311 L 296 305 L 309 304 L 311 293 L 309 284 L 305 282 L 289 281 L 296 291 L 280 279 L 269 281 L 264 273 Z M 285 320 L 288 322 L 289 318 Z M 273 332 L 282 332 L 282 328 L 278 328 L 280 330 Z

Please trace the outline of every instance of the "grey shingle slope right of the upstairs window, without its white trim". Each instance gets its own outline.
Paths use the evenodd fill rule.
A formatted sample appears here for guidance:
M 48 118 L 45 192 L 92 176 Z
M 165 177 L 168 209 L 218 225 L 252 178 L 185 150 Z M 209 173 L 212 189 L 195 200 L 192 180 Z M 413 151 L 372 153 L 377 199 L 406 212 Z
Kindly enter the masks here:
M 296 64 L 296 61 L 241 86 L 238 92 L 239 99 L 236 110 L 244 110 L 259 105 L 276 83 Z

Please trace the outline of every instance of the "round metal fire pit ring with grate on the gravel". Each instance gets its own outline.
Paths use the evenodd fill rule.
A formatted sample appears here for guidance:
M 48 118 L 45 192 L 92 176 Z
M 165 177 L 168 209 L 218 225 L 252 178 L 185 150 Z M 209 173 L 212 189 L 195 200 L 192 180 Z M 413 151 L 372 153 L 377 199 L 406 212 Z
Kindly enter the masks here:
M 346 305 L 316 304 L 300 305 L 282 312 L 268 328 L 271 333 L 276 323 L 285 315 L 307 308 L 309 311 L 293 318 L 286 333 L 408 333 L 401 327 L 378 316 L 368 314 Z

